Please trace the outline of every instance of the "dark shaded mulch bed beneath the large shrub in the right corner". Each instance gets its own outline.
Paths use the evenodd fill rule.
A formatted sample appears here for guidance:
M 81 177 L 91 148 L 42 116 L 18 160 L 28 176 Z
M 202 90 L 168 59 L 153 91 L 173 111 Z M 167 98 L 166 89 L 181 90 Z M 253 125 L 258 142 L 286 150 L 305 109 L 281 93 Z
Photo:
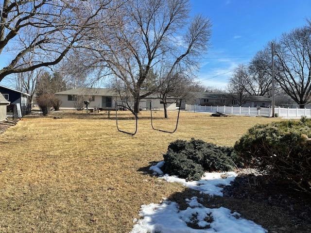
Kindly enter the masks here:
M 205 198 L 203 204 L 239 212 L 272 233 L 311 232 L 311 196 L 285 181 L 242 174 L 223 193 L 223 198 Z

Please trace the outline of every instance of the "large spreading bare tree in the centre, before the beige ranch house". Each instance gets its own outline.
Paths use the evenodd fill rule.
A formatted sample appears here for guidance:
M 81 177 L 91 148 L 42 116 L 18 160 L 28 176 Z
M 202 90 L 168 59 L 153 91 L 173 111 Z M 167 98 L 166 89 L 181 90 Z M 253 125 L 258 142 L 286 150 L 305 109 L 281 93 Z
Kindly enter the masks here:
M 143 87 L 162 61 L 171 64 L 168 75 L 179 66 L 195 69 L 195 59 L 207 49 L 211 24 L 202 16 L 188 23 L 188 0 L 129 0 L 122 10 L 116 27 L 109 31 L 110 44 L 102 43 L 107 40 L 102 30 L 93 33 L 91 56 L 98 52 L 103 70 L 109 71 L 106 75 L 121 79 L 124 92 L 137 99 L 154 93 L 157 86 L 147 91 Z M 185 25 L 188 30 L 181 35 Z M 134 112 L 138 111 L 135 105 Z

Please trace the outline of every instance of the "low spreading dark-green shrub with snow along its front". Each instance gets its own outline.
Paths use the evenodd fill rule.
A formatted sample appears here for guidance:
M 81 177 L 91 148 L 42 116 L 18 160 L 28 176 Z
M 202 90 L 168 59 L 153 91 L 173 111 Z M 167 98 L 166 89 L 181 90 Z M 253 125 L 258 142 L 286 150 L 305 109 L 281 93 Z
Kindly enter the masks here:
M 220 147 L 202 140 L 176 140 L 163 155 L 163 171 L 187 180 L 199 180 L 203 171 L 229 171 L 242 166 L 233 148 Z

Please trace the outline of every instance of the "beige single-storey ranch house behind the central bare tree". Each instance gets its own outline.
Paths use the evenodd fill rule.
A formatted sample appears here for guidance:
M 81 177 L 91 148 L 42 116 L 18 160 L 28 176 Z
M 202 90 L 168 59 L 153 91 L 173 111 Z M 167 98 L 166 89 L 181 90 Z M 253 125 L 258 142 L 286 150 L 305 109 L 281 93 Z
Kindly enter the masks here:
M 89 107 L 100 108 L 100 109 L 115 109 L 116 100 L 121 100 L 119 94 L 109 88 L 76 88 L 67 91 L 61 91 L 55 93 L 55 95 L 62 101 L 60 108 L 73 109 L 75 101 L 79 97 L 84 97 L 90 101 Z M 149 98 L 156 97 L 155 95 L 149 96 Z M 151 100 L 151 99 L 150 99 Z M 152 108 L 163 109 L 163 104 L 160 100 L 151 100 Z M 119 103 L 120 104 L 120 103 Z M 149 109 L 150 103 L 148 100 L 141 100 L 139 103 L 139 108 Z M 167 104 L 168 110 L 175 110 L 176 103 Z

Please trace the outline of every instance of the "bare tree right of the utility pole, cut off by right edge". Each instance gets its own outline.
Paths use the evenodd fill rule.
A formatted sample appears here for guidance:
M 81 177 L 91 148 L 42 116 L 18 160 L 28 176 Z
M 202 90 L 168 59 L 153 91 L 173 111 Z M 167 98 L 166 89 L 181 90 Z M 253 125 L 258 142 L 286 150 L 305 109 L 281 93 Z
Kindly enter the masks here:
M 276 80 L 301 108 L 311 102 L 311 27 L 284 33 L 276 46 Z

